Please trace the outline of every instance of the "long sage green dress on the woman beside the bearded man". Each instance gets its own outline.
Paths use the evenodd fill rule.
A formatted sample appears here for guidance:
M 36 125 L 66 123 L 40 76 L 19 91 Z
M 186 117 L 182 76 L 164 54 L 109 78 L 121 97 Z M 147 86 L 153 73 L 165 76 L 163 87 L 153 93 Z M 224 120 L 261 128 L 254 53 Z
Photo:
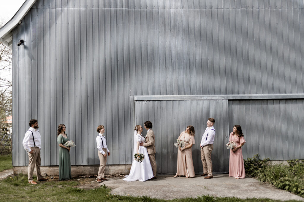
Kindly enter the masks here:
M 58 144 L 64 144 L 69 138 L 61 134 L 57 137 Z M 59 180 L 68 180 L 72 178 L 70 152 L 66 148 L 59 147 Z

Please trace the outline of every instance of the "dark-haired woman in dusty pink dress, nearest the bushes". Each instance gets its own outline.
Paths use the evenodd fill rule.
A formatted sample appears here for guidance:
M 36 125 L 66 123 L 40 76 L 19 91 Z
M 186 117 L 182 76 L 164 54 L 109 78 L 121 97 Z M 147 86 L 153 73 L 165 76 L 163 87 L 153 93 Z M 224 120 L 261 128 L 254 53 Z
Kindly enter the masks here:
M 237 144 L 237 146 L 230 150 L 229 177 L 235 177 L 236 179 L 245 178 L 245 167 L 241 147 L 246 141 L 240 125 L 233 126 L 233 132 L 230 133 L 229 141 L 233 141 Z

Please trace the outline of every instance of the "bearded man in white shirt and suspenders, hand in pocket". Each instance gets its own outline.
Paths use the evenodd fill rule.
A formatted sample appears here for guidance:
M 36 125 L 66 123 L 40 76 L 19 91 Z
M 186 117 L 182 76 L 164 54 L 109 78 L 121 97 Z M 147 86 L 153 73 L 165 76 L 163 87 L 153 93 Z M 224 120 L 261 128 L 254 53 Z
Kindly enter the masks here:
M 29 184 L 37 184 L 33 181 L 33 171 L 35 166 L 38 181 L 47 181 L 46 178 L 43 178 L 40 172 L 41 135 L 38 131 L 38 121 L 36 119 L 30 120 L 29 126 L 29 130 L 26 131 L 22 144 L 29 156 L 29 167 L 27 169 Z

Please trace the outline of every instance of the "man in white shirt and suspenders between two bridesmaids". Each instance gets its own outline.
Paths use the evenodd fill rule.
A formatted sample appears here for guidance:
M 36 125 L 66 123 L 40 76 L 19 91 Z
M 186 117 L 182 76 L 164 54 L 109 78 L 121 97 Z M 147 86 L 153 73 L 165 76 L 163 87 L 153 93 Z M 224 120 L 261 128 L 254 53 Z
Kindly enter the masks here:
M 212 175 L 212 161 L 211 161 L 211 153 L 213 150 L 213 142 L 215 137 L 215 129 L 214 129 L 214 118 L 209 118 L 207 121 L 207 128 L 203 134 L 202 141 L 200 144 L 201 147 L 201 160 L 203 164 L 204 174 L 201 176 L 206 176 L 205 179 L 213 178 Z

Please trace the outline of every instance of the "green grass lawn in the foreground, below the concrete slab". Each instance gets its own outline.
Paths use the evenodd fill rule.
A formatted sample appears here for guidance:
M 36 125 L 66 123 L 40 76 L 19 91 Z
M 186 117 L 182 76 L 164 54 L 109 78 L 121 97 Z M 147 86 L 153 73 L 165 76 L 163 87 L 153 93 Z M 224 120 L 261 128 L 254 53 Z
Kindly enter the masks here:
M 31 185 L 27 181 L 27 175 L 19 174 L 0 181 L 1 201 L 278 201 L 271 199 L 238 199 L 234 197 L 210 196 L 161 200 L 145 196 L 131 197 L 111 194 L 111 190 L 105 185 L 101 185 L 97 189 L 84 190 L 77 187 L 81 183 L 84 183 L 84 179 L 68 181 L 52 179 L 47 182 L 38 182 L 37 185 Z

